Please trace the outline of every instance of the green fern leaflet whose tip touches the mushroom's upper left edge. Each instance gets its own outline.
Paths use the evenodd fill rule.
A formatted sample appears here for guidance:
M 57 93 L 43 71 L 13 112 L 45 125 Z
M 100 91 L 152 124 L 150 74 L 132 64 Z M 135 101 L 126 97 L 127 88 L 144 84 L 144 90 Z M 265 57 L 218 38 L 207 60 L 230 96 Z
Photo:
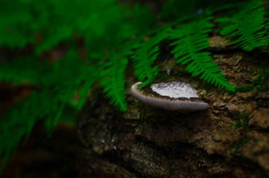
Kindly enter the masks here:
M 159 43 L 167 37 L 170 28 L 165 28 L 158 35 L 150 38 L 145 43 L 142 43 L 134 55 L 132 61 L 135 68 L 135 76 L 139 81 L 143 82 L 139 87 L 145 87 L 150 84 L 157 76 L 158 66 L 151 67 L 159 55 Z M 144 81 L 144 79 L 147 79 Z

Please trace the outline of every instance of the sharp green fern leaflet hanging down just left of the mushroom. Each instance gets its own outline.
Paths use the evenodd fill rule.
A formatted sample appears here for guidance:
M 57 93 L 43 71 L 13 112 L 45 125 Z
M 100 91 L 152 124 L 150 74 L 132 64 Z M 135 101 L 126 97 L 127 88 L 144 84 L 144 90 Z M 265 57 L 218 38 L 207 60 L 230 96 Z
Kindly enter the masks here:
M 121 57 L 121 55 L 113 53 L 113 55 L 110 55 L 109 61 L 103 63 L 104 69 L 101 71 L 101 86 L 105 96 L 110 99 L 111 104 L 120 111 L 126 111 L 125 69 L 128 60 Z

